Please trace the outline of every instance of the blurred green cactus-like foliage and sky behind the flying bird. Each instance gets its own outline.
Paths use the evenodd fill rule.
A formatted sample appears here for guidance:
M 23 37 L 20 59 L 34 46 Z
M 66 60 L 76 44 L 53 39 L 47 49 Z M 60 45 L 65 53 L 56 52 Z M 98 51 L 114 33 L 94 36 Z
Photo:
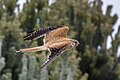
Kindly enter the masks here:
M 120 1 L 109 1 L 0 0 L 0 80 L 120 80 Z M 61 24 L 80 42 L 76 50 L 41 70 L 48 52 L 15 52 L 42 45 L 24 41 L 27 32 Z

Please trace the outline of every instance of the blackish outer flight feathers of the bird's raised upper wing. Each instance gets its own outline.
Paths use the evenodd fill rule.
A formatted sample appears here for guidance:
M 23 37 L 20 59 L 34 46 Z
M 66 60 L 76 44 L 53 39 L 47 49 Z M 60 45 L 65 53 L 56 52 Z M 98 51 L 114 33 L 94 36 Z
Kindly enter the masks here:
M 28 32 L 23 38 L 24 38 L 24 40 L 38 39 L 38 38 L 44 36 L 45 34 L 51 32 L 53 30 L 56 30 L 60 27 L 63 27 L 63 25 L 59 25 L 59 26 L 55 26 L 55 27 L 51 27 L 51 28 L 40 28 L 38 30 Z

